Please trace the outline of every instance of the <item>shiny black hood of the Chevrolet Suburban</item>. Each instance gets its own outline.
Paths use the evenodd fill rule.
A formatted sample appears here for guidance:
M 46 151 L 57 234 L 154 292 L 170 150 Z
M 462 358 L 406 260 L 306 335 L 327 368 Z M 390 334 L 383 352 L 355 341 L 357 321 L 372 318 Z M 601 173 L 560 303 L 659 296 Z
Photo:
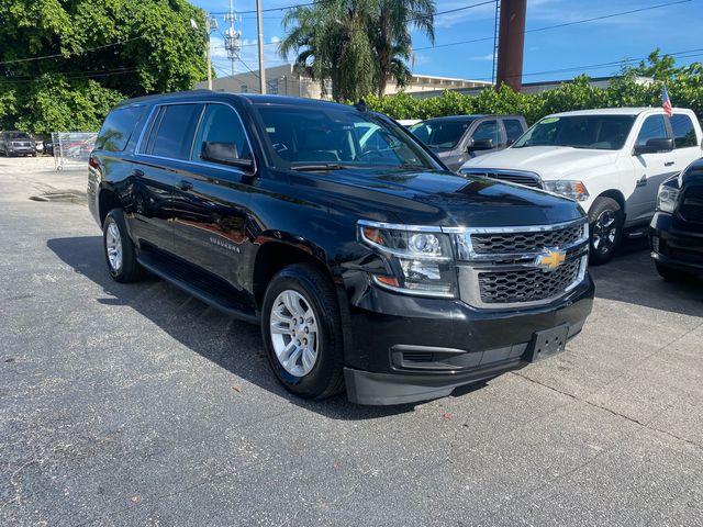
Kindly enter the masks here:
M 583 215 L 573 201 L 527 187 L 454 172 L 334 170 L 294 172 L 291 183 L 331 212 L 359 218 L 438 226 L 544 225 Z

